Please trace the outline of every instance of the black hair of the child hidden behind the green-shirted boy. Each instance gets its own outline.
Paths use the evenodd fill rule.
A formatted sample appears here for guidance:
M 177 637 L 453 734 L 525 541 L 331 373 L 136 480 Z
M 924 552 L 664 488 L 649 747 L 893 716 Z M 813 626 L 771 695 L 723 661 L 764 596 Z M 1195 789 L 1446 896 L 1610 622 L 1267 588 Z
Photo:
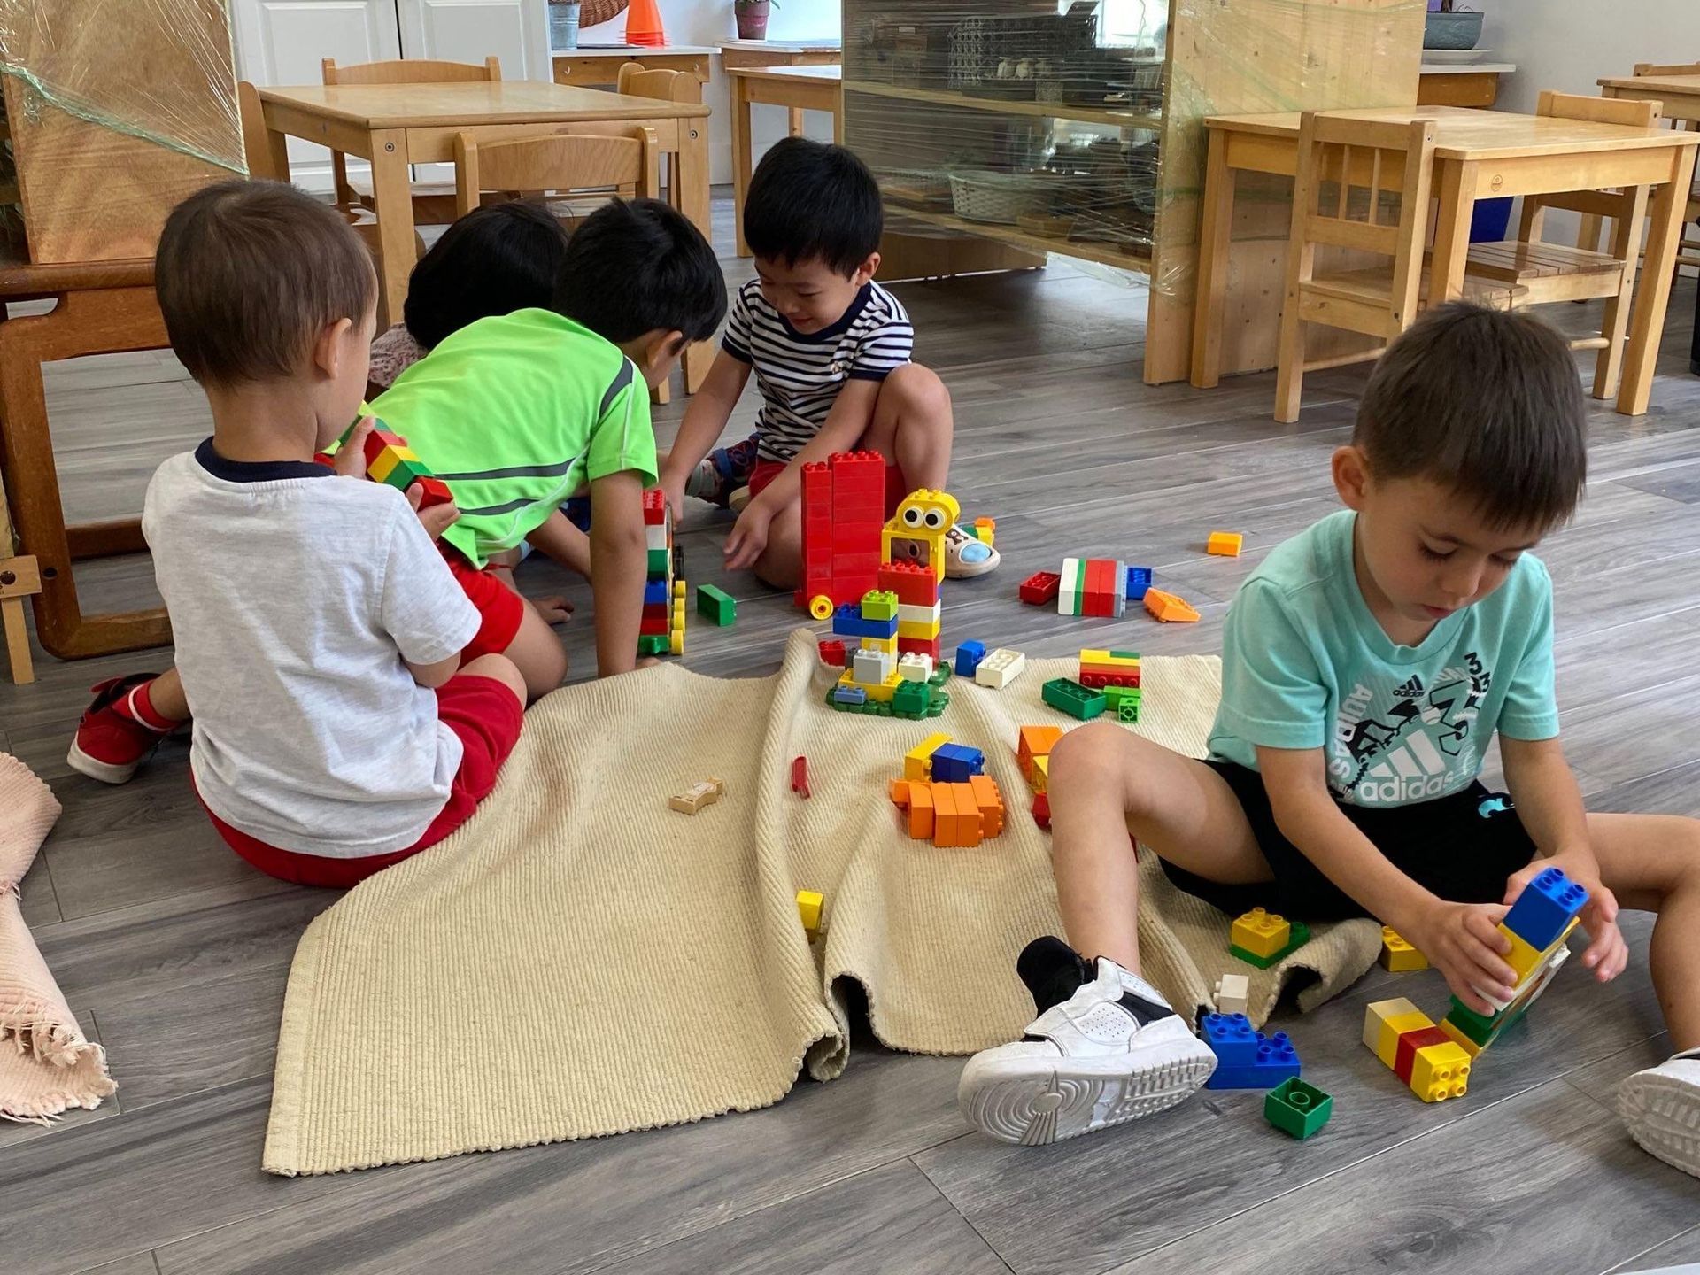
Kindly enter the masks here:
M 476 320 L 547 306 L 564 258 L 566 230 L 537 204 L 474 207 L 413 267 L 408 333 L 428 350 Z

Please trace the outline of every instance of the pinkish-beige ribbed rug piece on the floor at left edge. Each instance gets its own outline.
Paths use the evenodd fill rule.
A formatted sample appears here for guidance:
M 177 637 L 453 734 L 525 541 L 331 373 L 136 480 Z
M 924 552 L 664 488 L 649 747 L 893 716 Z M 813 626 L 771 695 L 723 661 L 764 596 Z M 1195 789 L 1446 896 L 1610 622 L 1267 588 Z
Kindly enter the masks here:
M 19 911 L 19 882 L 58 818 L 48 785 L 0 753 L 0 1117 L 8 1120 L 48 1124 L 68 1107 L 99 1107 L 117 1088 Z

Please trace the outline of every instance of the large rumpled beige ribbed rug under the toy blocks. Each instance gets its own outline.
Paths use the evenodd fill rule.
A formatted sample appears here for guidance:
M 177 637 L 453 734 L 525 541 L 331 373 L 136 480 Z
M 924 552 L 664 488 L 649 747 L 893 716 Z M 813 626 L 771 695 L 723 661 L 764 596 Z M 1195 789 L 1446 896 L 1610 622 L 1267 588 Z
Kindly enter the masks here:
M 966 1054 L 1020 1034 L 1015 955 L 1057 932 L 1047 833 L 1013 755 L 1022 724 L 1073 724 L 1032 661 L 1003 692 L 952 678 L 944 717 L 835 712 L 813 634 L 770 678 L 665 665 L 537 704 L 484 808 L 440 847 L 372 877 L 303 935 L 289 976 L 264 1164 L 330 1173 L 697 1120 L 777 1102 L 799 1068 L 840 1073 L 842 979 L 896 1047 Z M 1139 731 L 1200 753 L 1214 658 L 1144 661 Z M 886 796 L 933 731 L 986 751 L 1010 821 L 972 850 L 911 842 Z M 813 796 L 790 790 L 809 758 Z M 668 796 L 726 796 L 695 816 Z M 1258 974 L 1221 911 L 1146 858 L 1141 954 L 1173 1003 L 1251 974 L 1255 1017 L 1294 971 L 1309 1008 L 1379 950 L 1367 921 L 1318 926 Z M 813 949 L 796 891 L 826 896 Z

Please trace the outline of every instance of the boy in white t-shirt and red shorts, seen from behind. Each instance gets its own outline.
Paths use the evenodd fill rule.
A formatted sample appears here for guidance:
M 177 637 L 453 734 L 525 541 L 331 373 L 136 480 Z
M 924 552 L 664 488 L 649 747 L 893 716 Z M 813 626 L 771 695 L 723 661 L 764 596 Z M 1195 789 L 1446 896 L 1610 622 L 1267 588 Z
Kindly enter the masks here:
M 461 665 L 479 614 L 434 544 L 454 507 L 366 481 L 359 432 L 335 471 L 313 462 L 366 389 L 377 280 L 347 223 L 224 182 L 172 212 L 155 277 L 212 408 L 143 507 L 177 666 L 95 687 L 70 763 L 122 784 L 192 712 L 196 792 L 231 848 L 352 886 L 471 816 L 525 683 L 502 654 Z

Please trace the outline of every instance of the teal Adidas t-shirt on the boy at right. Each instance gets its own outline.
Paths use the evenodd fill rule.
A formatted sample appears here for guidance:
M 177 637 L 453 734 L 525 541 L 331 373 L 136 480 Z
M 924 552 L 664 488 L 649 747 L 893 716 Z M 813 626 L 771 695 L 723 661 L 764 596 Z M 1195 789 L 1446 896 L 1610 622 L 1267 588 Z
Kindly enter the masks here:
M 1399 646 L 1352 566 L 1357 513 L 1278 546 L 1234 595 L 1210 753 L 1256 770 L 1256 748 L 1323 748 L 1328 787 L 1357 806 L 1408 806 L 1481 772 L 1494 731 L 1559 733 L 1552 580 L 1522 554 L 1493 593 Z

